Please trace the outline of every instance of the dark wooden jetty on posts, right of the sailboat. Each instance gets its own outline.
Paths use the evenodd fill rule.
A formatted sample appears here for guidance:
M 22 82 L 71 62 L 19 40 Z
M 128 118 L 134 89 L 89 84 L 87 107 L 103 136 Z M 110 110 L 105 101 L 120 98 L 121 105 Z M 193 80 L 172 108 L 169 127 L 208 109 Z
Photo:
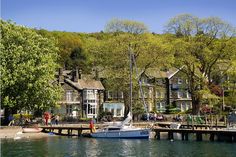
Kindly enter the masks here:
M 229 141 L 229 142 L 236 142 L 236 130 L 229 131 L 229 130 L 200 130 L 200 129 L 170 129 L 170 128 L 153 128 L 155 132 L 155 137 L 160 140 L 161 133 L 167 132 L 168 139 L 174 140 L 174 133 L 181 134 L 182 140 L 188 140 L 189 134 L 195 134 L 197 141 L 202 141 L 202 135 L 207 134 L 209 135 L 209 140 L 214 141 Z

